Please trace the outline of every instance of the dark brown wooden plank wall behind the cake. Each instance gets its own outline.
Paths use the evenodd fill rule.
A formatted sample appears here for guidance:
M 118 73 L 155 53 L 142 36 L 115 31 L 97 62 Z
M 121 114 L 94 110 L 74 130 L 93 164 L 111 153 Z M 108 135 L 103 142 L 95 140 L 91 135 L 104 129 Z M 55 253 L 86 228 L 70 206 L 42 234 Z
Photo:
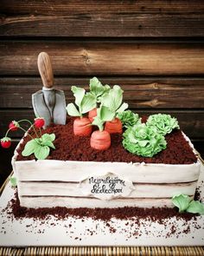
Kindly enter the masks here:
M 96 75 L 119 84 L 138 114 L 178 118 L 204 152 L 204 1 L 0 1 L 0 136 L 12 120 L 32 119 L 31 94 L 41 89 L 36 60 L 52 58 L 55 86 Z M 13 146 L 0 150 L 0 179 Z

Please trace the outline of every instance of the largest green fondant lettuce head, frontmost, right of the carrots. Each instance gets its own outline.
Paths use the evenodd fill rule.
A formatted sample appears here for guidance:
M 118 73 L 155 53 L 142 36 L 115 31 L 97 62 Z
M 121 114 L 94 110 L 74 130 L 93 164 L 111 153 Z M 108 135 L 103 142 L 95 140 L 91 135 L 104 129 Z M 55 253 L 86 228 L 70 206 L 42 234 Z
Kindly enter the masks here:
M 156 128 L 144 123 L 128 128 L 124 132 L 123 146 L 132 154 L 152 157 L 166 148 L 167 142 Z

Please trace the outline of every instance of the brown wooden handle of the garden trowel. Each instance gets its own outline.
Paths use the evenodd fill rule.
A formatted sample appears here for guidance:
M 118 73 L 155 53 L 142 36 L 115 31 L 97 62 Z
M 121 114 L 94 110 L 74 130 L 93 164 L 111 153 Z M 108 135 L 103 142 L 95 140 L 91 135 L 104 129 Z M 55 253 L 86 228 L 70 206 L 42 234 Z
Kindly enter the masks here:
M 48 53 L 41 52 L 39 54 L 37 59 L 37 66 L 41 75 L 43 86 L 46 88 L 52 88 L 54 84 L 54 76 Z

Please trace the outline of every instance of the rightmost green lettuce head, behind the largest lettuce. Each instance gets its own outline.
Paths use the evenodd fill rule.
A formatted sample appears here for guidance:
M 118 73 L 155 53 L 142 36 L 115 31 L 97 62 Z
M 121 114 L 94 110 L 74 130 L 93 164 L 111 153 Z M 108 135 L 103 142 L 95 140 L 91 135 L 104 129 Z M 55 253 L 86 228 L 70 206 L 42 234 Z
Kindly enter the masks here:
M 170 134 L 173 129 L 179 128 L 176 118 L 166 114 L 150 115 L 146 125 L 148 127 L 155 127 L 161 135 Z

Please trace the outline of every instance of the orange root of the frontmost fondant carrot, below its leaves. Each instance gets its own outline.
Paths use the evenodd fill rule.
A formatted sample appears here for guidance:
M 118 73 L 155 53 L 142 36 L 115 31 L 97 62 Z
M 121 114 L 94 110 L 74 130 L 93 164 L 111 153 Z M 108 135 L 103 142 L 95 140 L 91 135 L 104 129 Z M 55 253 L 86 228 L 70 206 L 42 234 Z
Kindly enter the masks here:
M 111 146 L 111 136 L 110 134 L 103 131 L 94 131 L 91 136 L 91 147 L 98 150 L 106 150 Z

